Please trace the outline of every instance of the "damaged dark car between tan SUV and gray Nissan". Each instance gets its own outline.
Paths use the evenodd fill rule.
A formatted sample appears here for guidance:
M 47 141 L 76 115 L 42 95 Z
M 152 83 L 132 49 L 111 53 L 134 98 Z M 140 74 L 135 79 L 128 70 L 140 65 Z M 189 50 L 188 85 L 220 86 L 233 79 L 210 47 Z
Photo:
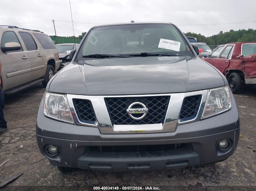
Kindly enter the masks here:
M 64 66 L 70 63 L 69 54 L 71 50 L 78 49 L 79 44 L 64 43 L 64 44 L 56 44 L 55 46 L 59 53 L 59 61 L 60 61 L 59 70 L 60 70 L 61 68 L 63 68 Z

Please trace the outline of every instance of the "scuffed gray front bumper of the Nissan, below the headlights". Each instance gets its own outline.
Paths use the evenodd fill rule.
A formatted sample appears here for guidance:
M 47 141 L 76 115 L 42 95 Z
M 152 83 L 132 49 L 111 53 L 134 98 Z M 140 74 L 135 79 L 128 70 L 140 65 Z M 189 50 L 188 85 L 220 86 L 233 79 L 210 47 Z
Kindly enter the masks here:
M 49 119 L 39 107 L 36 133 L 40 151 L 55 166 L 102 171 L 135 171 L 181 168 L 221 161 L 231 156 L 239 139 L 238 110 L 231 96 L 232 108 L 201 121 L 177 126 L 175 132 L 143 134 L 101 134 L 98 128 L 78 126 Z M 230 147 L 221 151 L 219 140 L 228 139 Z M 92 146 L 185 144 L 167 151 L 101 152 Z M 59 154 L 51 157 L 47 145 L 56 145 Z

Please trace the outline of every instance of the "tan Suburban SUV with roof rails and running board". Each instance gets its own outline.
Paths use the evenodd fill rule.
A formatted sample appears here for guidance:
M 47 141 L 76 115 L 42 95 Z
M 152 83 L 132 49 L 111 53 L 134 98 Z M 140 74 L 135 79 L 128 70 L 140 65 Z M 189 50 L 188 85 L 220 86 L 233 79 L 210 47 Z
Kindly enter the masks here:
M 5 94 L 38 82 L 46 87 L 59 68 L 58 51 L 51 38 L 39 31 L 0 26 L 1 80 Z

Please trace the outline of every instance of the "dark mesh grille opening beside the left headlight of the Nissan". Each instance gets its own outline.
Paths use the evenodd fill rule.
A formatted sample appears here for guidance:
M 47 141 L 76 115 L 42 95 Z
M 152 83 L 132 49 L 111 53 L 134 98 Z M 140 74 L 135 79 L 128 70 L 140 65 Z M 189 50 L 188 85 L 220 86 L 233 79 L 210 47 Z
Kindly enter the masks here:
M 82 123 L 92 123 L 96 121 L 95 113 L 90 100 L 73 99 L 78 119 Z

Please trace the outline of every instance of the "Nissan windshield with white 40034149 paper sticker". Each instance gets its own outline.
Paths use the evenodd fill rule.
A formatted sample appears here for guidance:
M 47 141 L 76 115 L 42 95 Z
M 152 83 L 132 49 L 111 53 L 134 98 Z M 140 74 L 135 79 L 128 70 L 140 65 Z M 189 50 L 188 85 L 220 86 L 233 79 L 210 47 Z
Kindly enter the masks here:
M 171 24 L 124 24 L 95 27 L 79 46 L 81 48 L 78 52 L 78 59 L 90 59 L 85 57 L 94 54 L 120 56 L 163 53 L 194 56 L 185 38 Z

